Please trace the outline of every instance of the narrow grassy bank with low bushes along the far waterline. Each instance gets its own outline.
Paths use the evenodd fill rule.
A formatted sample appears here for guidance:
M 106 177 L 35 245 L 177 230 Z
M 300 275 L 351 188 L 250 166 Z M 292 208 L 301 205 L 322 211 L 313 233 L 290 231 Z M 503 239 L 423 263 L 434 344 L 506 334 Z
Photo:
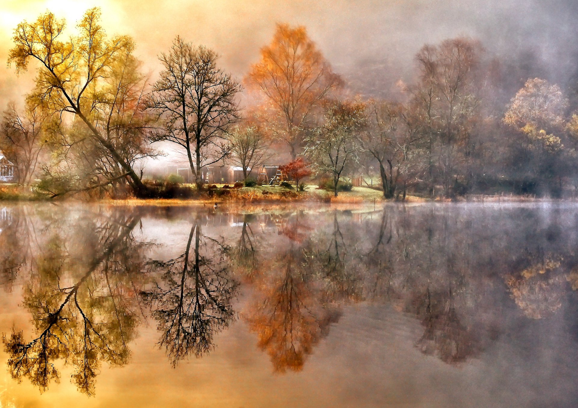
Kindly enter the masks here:
M 81 200 L 81 201 L 108 201 L 143 204 L 187 204 L 187 203 L 343 203 L 362 204 L 381 201 L 420 203 L 428 201 L 461 202 L 475 201 L 481 203 L 502 203 L 513 201 L 540 201 L 551 200 L 549 197 L 536 197 L 531 194 L 466 194 L 465 196 L 446 199 L 442 196 L 418 196 L 402 194 L 386 199 L 383 190 L 374 186 L 353 186 L 351 182 L 338 183 L 338 196 L 331 182 L 321 181 L 317 184 L 291 184 L 288 181 L 279 185 L 260 185 L 254 181 L 235 184 L 206 184 L 197 189 L 192 184 L 166 178 L 164 181 L 146 181 L 149 190 L 148 197 L 135 197 L 130 189 L 101 189 L 71 190 L 54 193 L 39 188 L 39 186 L 20 186 L 17 184 L 0 184 L 0 201 L 54 201 L 54 200 Z M 119 193 L 124 191 L 124 193 Z

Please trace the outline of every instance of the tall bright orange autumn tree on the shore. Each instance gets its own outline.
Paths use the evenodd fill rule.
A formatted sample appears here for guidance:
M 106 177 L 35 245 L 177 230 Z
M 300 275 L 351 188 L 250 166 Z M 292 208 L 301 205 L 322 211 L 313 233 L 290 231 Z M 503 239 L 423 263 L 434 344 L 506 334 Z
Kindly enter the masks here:
M 273 41 L 246 78 L 263 98 L 262 110 L 272 136 L 286 143 L 295 160 L 310 116 L 342 80 L 334 73 L 305 27 L 277 24 Z

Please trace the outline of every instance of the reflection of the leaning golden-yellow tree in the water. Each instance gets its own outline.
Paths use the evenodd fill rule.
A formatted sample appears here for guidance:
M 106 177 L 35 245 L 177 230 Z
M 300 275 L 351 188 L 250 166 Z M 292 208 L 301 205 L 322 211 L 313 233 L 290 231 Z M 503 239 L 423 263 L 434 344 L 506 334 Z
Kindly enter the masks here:
M 74 285 L 60 287 L 67 272 L 81 265 L 68 263 L 64 242 L 55 237 L 38 257 L 37 273 L 24 289 L 24 305 L 31 311 L 39 335 L 24 341 L 23 332 L 3 337 L 14 379 L 28 377 L 41 391 L 58 381 L 55 361 L 74 367 L 72 381 L 80 391 L 94 394 L 101 361 L 123 365 L 128 342 L 135 336 L 136 313 L 127 289 L 135 285 L 133 272 L 142 265 L 141 252 L 130 236 L 139 218 L 111 220 L 92 242 L 93 257 Z M 135 246 L 136 245 L 136 246 Z M 127 254 L 131 254 L 127 256 Z

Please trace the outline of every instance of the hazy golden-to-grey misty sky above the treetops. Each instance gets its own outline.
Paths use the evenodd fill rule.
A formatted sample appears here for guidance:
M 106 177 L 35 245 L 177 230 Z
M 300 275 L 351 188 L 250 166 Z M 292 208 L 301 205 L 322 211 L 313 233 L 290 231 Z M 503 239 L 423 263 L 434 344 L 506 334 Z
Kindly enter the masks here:
M 399 80 L 412 81 L 414 55 L 426 43 L 468 36 L 479 39 L 487 55 L 501 61 L 509 100 L 530 77 L 557 83 L 570 99 L 578 90 L 578 2 L 573 0 L 4 0 L 0 5 L 0 59 L 12 47 L 12 31 L 46 9 L 65 17 L 68 28 L 92 6 L 102 8 L 110 35 L 131 35 L 136 55 L 153 83 L 158 54 L 176 35 L 205 44 L 221 55 L 224 69 L 242 79 L 259 50 L 271 41 L 275 24 L 304 25 L 309 36 L 349 85 L 366 97 L 396 99 Z M 34 70 L 21 77 L 0 69 L 0 108 L 21 104 L 32 87 Z M 569 92 L 570 91 L 570 92 Z M 173 158 L 174 159 L 174 158 Z M 164 166 L 161 158 L 153 167 Z M 149 167 L 149 166 L 147 166 Z

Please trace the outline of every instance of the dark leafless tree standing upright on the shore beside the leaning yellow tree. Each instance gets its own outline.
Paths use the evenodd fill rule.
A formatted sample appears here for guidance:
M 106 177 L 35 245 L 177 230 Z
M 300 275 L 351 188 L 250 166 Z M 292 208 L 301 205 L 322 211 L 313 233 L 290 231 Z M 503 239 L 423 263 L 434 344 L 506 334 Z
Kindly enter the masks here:
M 217 67 L 217 59 L 213 50 L 177 36 L 171 51 L 161 54 L 164 70 L 149 99 L 162 118 L 156 140 L 185 149 L 198 188 L 201 168 L 228 156 L 225 133 L 238 119 L 235 96 L 241 87 Z

